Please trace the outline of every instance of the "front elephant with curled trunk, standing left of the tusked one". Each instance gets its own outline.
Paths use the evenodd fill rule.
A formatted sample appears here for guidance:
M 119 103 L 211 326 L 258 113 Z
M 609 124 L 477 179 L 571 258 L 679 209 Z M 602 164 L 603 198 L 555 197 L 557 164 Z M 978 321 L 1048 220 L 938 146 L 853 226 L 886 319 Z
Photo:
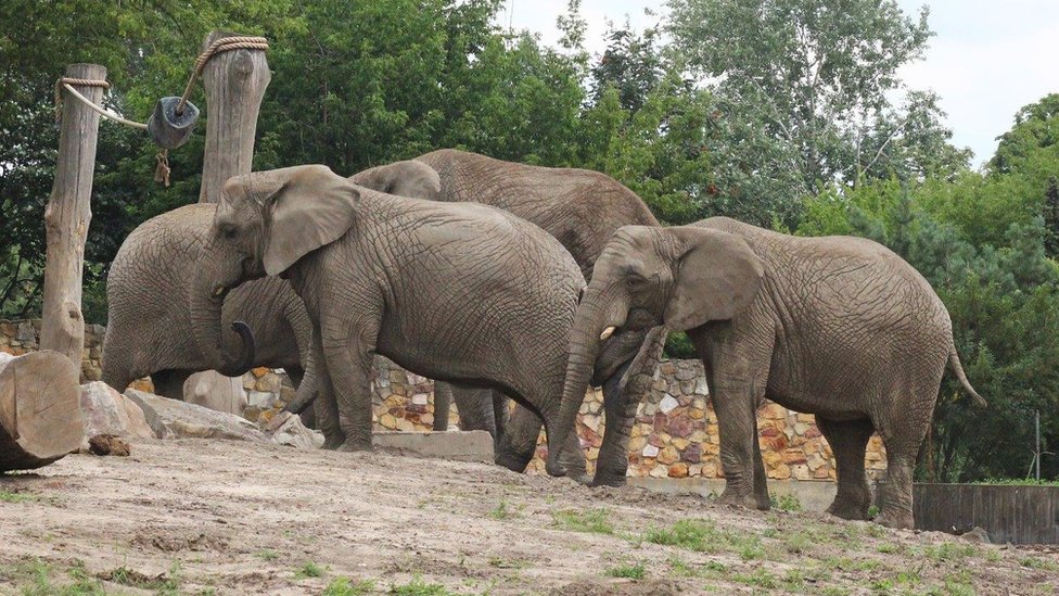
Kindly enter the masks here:
M 229 179 L 203 253 L 192 320 L 199 343 L 218 353 L 226 294 L 266 275 L 290 279 L 314 324 L 321 398 L 337 421 L 323 431 L 341 434 L 343 451 L 371 447 L 374 353 L 433 379 L 502 390 L 541 416 L 560 451 L 551 438 L 584 279 L 532 224 L 297 166 Z M 567 436 L 564 464 L 583 470 Z

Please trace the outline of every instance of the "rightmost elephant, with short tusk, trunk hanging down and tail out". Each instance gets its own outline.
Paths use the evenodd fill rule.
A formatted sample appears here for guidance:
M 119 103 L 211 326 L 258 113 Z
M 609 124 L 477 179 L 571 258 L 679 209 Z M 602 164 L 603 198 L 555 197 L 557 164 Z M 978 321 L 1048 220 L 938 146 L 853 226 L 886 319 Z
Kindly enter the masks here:
M 642 318 L 687 331 L 702 358 L 725 503 L 768 507 L 755 420 L 768 397 L 816 415 L 838 462 L 828 511 L 839 517 L 867 519 L 864 457 L 878 431 L 889 479 L 877 521 L 911 528 L 913 468 L 946 366 L 985 403 L 964 375 L 945 306 L 893 252 L 859 238 L 795 238 L 714 217 L 627 227 L 608 243 L 571 331 L 560 432 L 584 400 L 600 335 Z M 548 468 L 561 471 L 556 460 Z

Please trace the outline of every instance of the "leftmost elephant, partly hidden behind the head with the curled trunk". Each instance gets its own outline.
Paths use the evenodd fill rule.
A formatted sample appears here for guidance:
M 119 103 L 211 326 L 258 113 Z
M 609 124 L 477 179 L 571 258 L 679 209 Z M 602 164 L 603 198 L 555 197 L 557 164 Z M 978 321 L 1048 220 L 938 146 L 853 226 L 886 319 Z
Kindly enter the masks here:
M 103 339 L 103 381 L 124 391 L 130 382 L 151 376 L 155 392 L 183 398 L 183 382 L 200 370 L 231 377 L 251 367 L 284 368 L 295 383 L 302 380 L 310 351 L 311 325 L 297 294 L 279 279 L 247 283 L 226 304 L 224 342 L 238 352 L 241 340 L 230 331 L 243 320 L 257 333 L 252 360 L 226 362 L 195 344 L 189 289 L 216 206 L 179 207 L 144 221 L 122 243 L 106 280 L 109 321 Z M 311 373 L 299 391 L 311 394 Z

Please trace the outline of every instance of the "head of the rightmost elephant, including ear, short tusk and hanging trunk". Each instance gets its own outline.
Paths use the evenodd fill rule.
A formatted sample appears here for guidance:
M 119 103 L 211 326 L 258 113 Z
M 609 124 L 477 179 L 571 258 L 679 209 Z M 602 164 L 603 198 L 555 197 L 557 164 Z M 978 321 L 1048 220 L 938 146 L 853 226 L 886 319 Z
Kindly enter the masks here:
M 764 264 L 747 241 L 727 232 L 692 226 L 614 232 L 574 317 L 553 444 L 563 445 L 573 429 L 600 345 L 615 330 L 664 325 L 685 331 L 731 319 L 753 303 L 763 275 Z M 548 456 L 553 475 L 563 473 L 559 456 Z

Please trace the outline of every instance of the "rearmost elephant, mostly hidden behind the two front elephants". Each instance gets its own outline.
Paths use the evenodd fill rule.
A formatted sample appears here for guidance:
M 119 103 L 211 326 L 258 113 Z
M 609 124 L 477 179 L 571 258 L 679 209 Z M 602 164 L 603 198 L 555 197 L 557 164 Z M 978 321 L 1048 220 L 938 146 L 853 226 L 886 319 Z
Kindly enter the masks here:
M 430 167 L 424 168 L 423 165 Z M 435 176 L 438 188 L 432 193 L 428 189 L 434 188 Z M 435 201 L 479 202 L 502 208 L 537 225 L 562 242 L 587 280 L 591 279 L 596 258 L 615 230 L 626 225 L 659 225 L 639 196 L 604 174 L 530 166 L 454 149 L 433 151 L 413 161 L 367 169 L 350 179 L 384 192 L 417 192 L 418 196 Z M 601 377 L 604 394 L 624 388 L 617 381 L 626 375 L 653 376 L 665 337 L 654 333 L 650 342 L 645 342 L 649 331 L 650 327 L 627 328 L 612 338 L 612 347 L 607 352 L 608 357 L 601 358 L 597 372 Z M 638 348 L 650 353 L 638 360 L 643 363 L 645 368 L 629 367 Z M 612 377 L 615 382 L 603 382 Z M 649 385 L 633 384 L 634 388 Z M 629 431 L 641 393 L 625 393 L 627 397 L 611 395 L 605 401 L 608 432 L 597 459 L 595 484 L 621 486 L 626 482 Z M 454 395 L 459 397 L 459 390 Z M 448 424 L 444 393 L 441 397 L 439 403 L 435 393 L 435 428 Z M 494 401 L 503 403 L 502 397 L 497 395 L 494 395 Z M 458 406 L 462 417 L 463 403 L 458 403 Z M 497 419 L 503 414 L 505 408 L 496 408 Z M 533 458 L 539 429 L 539 418 L 515 408 L 498 445 L 497 461 L 514 470 L 525 469 Z

